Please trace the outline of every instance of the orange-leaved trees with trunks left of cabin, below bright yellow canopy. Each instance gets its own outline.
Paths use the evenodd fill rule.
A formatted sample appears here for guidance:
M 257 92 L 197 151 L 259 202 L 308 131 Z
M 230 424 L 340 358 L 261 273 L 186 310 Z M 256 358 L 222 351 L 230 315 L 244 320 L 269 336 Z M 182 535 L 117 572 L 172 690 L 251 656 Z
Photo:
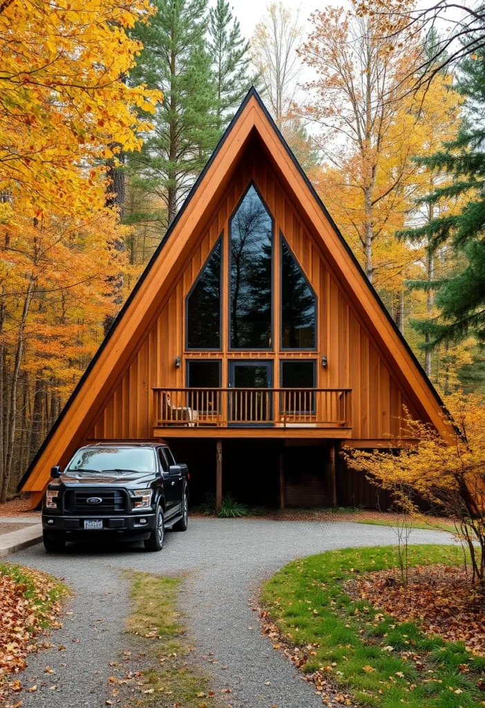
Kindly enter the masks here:
M 127 254 L 115 210 L 0 224 L 0 503 L 18 481 L 118 309 Z

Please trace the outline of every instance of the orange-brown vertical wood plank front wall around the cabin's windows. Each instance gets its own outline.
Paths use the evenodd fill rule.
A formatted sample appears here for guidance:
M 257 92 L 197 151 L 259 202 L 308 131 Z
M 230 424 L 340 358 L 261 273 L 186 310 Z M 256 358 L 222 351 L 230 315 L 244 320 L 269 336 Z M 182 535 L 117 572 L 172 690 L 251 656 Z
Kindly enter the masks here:
M 229 292 L 228 220 L 251 180 L 275 219 L 273 258 L 279 263 L 279 233 L 285 236 L 318 299 L 316 352 L 281 353 L 228 352 L 228 302 L 223 298 L 222 352 L 194 353 L 185 348 L 185 299 L 190 287 L 219 235 L 224 232 L 222 292 Z M 276 260 L 277 259 L 277 260 Z M 278 278 L 275 287 L 279 287 Z M 279 321 L 275 317 L 273 341 L 279 343 Z M 175 358 L 182 356 L 182 365 L 175 367 Z M 321 367 L 321 355 L 328 365 Z M 222 386 L 227 386 L 227 358 L 316 358 L 317 387 L 350 387 L 353 389 L 352 438 L 385 439 L 398 437 L 403 406 L 418 417 L 409 397 L 406 397 L 389 363 L 370 336 L 357 309 L 349 301 L 346 290 L 338 282 L 331 266 L 299 216 L 282 185 L 263 156 L 261 149 L 250 148 L 236 177 L 219 202 L 212 222 L 205 229 L 180 273 L 141 347 L 134 347 L 132 360 L 122 380 L 110 393 L 101 415 L 87 439 L 106 440 L 152 438 L 152 387 L 183 387 L 186 385 L 186 358 L 222 358 Z M 279 387 L 279 369 L 275 362 L 273 386 Z M 302 433 L 303 434 L 303 433 Z

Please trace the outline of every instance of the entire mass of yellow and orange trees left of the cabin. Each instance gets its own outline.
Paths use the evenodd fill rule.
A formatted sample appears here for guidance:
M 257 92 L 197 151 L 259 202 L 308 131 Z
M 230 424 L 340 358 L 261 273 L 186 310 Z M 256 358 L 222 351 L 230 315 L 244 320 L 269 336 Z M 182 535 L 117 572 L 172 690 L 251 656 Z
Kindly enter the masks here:
M 149 0 L 0 0 L 0 502 L 139 275 L 108 205 L 149 127 L 139 109 L 162 98 L 130 83 L 130 30 L 151 15 Z

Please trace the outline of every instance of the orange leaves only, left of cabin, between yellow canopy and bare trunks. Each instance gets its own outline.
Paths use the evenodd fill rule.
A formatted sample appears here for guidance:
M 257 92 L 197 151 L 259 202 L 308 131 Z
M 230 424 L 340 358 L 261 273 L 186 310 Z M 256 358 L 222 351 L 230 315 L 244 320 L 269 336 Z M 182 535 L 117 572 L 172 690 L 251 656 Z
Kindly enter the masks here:
M 1 345 L 5 353 L 16 351 L 26 314 L 22 370 L 32 380 L 40 372 L 54 379 L 62 402 L 101 344 L 105 318 L 116 314 L 109 278 L 127 269 L 127 256 L 110 243 L 127 231 L 113 210 L 84 219 L 45 217 L 38 226 L 25 217 L 0 224 L 0 292 L 8 314 Z

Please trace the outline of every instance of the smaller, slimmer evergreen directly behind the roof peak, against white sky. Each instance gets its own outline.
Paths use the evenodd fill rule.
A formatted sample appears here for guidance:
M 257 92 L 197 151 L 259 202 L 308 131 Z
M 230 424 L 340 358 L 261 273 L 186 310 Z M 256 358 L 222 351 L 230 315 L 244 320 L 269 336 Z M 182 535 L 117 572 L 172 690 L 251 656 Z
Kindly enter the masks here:
M 229 3 L 217 0 L 210 8 L 209 51 L 217 91 L 217 118 L 219 126 L 232 117 L 257 76 L 249 75 L 249 42 L 241 37 L 239 22 L 234 18 Z

